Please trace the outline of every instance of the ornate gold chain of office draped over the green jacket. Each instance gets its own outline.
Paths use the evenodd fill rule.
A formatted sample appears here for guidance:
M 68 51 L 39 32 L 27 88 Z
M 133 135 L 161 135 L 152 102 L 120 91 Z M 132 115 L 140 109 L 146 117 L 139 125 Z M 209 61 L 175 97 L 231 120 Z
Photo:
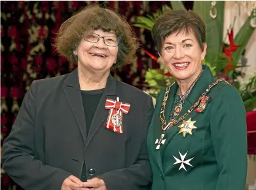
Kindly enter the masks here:
M 191 114 L 192 110 L 194 110 L 194 108 L 196 108 L 196 106 L 198 106 L 198 104 L 200 103 L 200 101 L 202 100 L 202 98 L 210 91 L 210 89 L 215 86 L 216 84 L 218 84 L 219 82 L 224 81 L 227 82 L 224 78 L 219 78 L 218 80 L 216 80 L 215 82 L 213 82 L 212 84 L 210 84 L 208 86 L 208 88 L 206 89 L 206 91 L 204 91 L 204 93 L 202 93 L 202 95 L 200 96 L 200 98 L 198 99 L 198 101 L 196 101 L 196 103 L 194 103 L 194 105 L 191 106 L 191 108 L 189 108 L 189 110 L 183 115 L 181 116 L 179 119 L 172 119 L 168 125 L 166 125 L 166 118 L 164 116 L 164 110 L 166 107 L 166 101 L 168 99 L 168 94 L 170 92 L 170 88 L 175 84 L 172 84 L 171 86 L 169 86 L 166 89 L 166 92 L 164 93 L 164 100 L 162 102 L 162 107 L 160 110 L 160 123 L 161 123 L 161 127 L 162 130 L 165 132 L 167 129 L 170 129 L 171 127 L 173 127 L 174 125 L 176 125 L 177 123 L 179 123 L 179 121 L 187 118 L 187 116 L 189 116 L 189 114 Z M 229 82 L 227 82 L 229 84 Z M 164 127 L 166 126 L 166 127 Z

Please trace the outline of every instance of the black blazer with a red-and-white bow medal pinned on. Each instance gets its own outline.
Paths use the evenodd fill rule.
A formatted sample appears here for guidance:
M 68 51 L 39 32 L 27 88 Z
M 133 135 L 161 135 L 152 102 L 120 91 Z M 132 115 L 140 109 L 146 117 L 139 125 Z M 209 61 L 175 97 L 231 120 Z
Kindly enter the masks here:
M 130 103 L 124 133 L 105 129 L 107 98 Z M 101 178 L 107 190 L 149 189 L 151 166 L 146 147 L 153 112 L 149 95 L 111 75 L 88 135 L 77 69 L 36 80 L 24 98 L 3 144 L 3 168 L 24 189 L 61 189 L 65 178 Z M 90 171 L 89 171 L 90 170 Z

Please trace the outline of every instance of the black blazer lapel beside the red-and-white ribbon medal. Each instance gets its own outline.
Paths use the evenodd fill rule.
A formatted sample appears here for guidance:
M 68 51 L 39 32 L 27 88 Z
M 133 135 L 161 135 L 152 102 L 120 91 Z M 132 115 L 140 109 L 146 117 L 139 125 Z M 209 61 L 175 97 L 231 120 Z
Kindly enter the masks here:
M 86 140 L 86 147 L 88 146 L 98 129 L 100 129 L 100 127 L 103 127 L 103 122 L 107 121 L 109 110 L 105 109 L 105 102 L 107 98 L 113 99 L 113 96 L 116 95 L 116 83 L 117 81 L 115 80 L 115 78 L 113 78 L 113 76 L 109 74 L 105 91 L 100 99 L 100 103 L 98 104 L 98 107 L 94 114 L 94 118 L 92 119 L 92 124 L 90 126 L 90 130 L 88 132 Z

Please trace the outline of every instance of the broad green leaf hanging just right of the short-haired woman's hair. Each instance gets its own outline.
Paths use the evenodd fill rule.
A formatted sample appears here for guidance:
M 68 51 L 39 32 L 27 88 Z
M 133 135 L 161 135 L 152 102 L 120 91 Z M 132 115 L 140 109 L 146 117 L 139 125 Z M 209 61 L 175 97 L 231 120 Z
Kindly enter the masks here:
M 214 62 L 218 59 L 219 53 L 222 50 L 221 36 L 223 35 L 223 32 L 219 33 L 220 29 L 217 19 L 213 20 L 210 17 L 210 7 L 211 1 L 194 1 L 194 12 L 199 14 L 199 16 L 202 18 L 202 20 L 204 20 L 206 24 L 206 43 L 208 45 L 206 60 L 209 62 Z

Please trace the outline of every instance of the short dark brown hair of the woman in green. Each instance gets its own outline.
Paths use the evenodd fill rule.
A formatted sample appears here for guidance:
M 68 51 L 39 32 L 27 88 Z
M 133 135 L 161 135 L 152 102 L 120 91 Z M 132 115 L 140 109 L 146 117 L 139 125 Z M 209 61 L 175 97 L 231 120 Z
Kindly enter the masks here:
M 204 50 L 206 24 L 202 18 L 192 10 L 172 10 L 157 18 L 151 31 L 158 52 L 161 54 L 162 42 L 166 37 L 181 31 L 185 31 L 186 34 L 192 32 L 201 50 Z

